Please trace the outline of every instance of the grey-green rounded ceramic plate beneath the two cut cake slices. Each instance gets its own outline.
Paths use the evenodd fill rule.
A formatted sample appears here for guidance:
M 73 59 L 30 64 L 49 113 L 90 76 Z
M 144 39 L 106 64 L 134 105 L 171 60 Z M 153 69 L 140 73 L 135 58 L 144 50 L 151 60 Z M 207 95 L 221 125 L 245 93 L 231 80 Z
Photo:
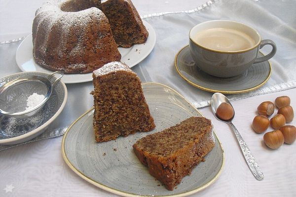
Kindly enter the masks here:
M 143 91 L 156 128 L 138 132 L 108 142 L 95 142 L 92 126 L 93 112 L 78 118 L 66 131 L 62 150 L 70 168 L 86 181 L 109 192 L 126 196 L 187 196 L 201 191 L 218 179 L 224 164 L 223 150 L 214 133 L 216 146 L 189 176 L 168 191 L 145 167 L 133 152 L 132 145 L 153 132 L 174 126 L 191 116 L 202 116 L 188 101 L 162 84 L 145 83 Z

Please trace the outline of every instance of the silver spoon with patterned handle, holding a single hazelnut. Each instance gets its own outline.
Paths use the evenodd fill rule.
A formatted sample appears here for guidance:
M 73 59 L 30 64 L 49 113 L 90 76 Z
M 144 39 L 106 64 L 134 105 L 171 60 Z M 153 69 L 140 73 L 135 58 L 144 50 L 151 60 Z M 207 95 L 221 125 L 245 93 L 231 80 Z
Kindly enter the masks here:
M 233 114 L 232 118 L 230 118 L 227 121 L 222 120 L 221 118 L 219 118 L 219 116 L 217 116 L 217 114 L 216 114 L 217 108 L 219 107 L 219 105 L 222 102 L 226 102 L 231 105 L 230 101 L 221 93 L 215 93 L 212 96 L 211 105 L 212 105 L 213 113 L 215 114 L 215 116 L 218 120 L 227 123 L 231 127 L 231 129 L 234 131 L 234 133 L 237 137 L 238 143 L 240 145 L 241 151 L 245 157 L 245 160 L 246 160 L 251 172 L 253 173 L 253 175 L 255 176 L 255 178 L 257 180 L 259 180 L 259 181 L 263 180 L 264 179 L 263 172 L 261 171 L 258 163 L 256 162 L 256 160 L 255 160 L 253 154 L 251 153 L 249 147 L 247 146 L 246 142 L 244 141 L 244 139 L 242 138 L 240 133 L 237 131 L 237 129 L 235 128 L 235 126 L 231 122 L 231 120 L 234 117 L 234 114 Z M 231 107 L 233 108 L 232 105 L 231 105 Z M 234 109 L 233 109 L 233 111 L 234 111 Z

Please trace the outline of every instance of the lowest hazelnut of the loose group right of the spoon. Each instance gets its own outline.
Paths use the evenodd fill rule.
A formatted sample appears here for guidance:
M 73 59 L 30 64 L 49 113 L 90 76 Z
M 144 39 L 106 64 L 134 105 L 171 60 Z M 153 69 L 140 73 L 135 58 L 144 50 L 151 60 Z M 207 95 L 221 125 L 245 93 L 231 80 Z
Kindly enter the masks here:
M 264 143 L 271 149 L 278 149 L 284 144 L 284 135 L 281 131 L 269 131 L 263 136 Z

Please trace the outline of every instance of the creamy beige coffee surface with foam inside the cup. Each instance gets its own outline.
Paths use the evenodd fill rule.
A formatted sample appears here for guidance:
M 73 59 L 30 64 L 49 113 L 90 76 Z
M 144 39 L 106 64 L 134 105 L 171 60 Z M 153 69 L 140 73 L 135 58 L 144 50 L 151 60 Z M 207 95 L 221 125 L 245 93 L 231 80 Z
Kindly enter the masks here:
M 199 45 L 218 51 L 242 51 L 255 46 L 255 40 L 248 34 L 234 29 L 212 28 L 193 35 Z

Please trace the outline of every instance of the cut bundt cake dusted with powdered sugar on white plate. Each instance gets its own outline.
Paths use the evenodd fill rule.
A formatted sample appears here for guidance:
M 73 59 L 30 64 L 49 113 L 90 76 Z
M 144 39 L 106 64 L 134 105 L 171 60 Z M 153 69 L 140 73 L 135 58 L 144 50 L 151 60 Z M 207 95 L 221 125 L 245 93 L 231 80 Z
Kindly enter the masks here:
M 37 9 L 32 36 L 39 65 L 88 73 L 120 61 L 117 46 L 144 43 L 148 32 L 130 0 L 51 0 Z

